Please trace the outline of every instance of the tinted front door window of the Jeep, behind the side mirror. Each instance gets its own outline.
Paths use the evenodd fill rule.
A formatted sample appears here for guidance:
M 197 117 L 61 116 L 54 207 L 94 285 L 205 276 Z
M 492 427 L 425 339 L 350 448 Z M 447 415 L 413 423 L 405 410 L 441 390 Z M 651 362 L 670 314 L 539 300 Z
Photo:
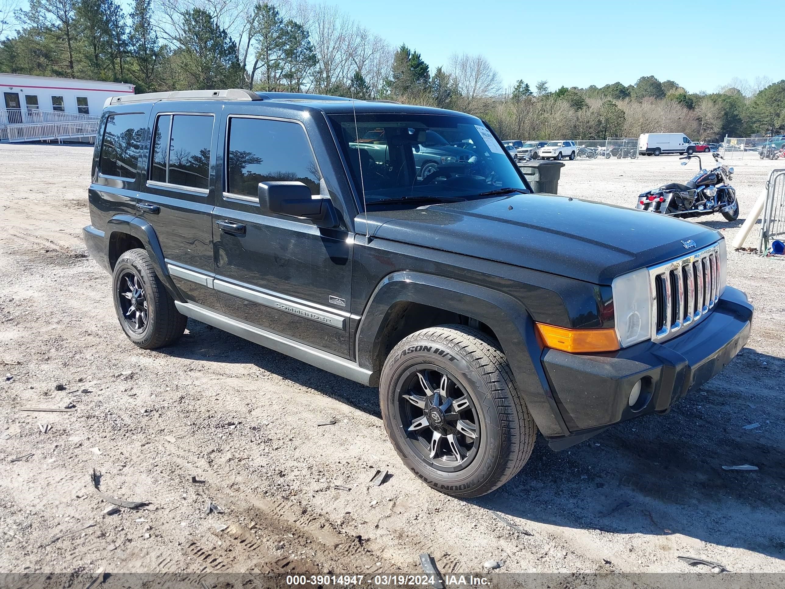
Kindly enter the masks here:
M 268 181 L 300 181 L 319 194 L 319 169 L 298 123 L 230 118 L 226 161 L 232 194 L 257 196 L 259 182 Z

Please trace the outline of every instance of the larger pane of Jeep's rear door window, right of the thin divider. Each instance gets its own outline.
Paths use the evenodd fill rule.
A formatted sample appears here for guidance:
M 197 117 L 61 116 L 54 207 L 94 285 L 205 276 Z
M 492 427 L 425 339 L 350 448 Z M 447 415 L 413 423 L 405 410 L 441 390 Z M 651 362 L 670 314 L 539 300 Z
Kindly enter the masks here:
M 174 115 L 169 141 L 169 183 L 207 189 L 213 117 Z

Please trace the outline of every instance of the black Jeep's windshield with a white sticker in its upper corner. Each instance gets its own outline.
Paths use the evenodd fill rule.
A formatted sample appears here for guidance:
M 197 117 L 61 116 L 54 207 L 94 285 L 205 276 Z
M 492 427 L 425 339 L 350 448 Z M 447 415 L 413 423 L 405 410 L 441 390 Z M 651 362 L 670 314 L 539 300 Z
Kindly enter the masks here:
M 481 192 L 499 188 L 528 192 L 504 146 L 478 119 L 358 114 L 355 128 L 353 115 L 329 118 L 368 208 L 401 199 L 418 207 L 425 199 L 483 198 Z

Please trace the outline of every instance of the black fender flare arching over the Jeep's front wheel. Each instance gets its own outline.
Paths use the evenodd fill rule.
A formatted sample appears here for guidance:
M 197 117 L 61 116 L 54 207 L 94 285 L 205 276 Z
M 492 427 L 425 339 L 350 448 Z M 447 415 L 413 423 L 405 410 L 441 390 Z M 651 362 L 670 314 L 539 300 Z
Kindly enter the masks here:
M 542 368 L 542 347 L 535 334 L 534 320 L 524 305 L 509 294 L 424 273 L 389 274 L 371 294 L 357 327 L 356 357 L 361 368 L 378 371 L 374 358 L 381 346 L 379 336 L 393 305 L 400 302 L 415 302 L 470 316 L 490 327 L 507 354 L 518 392 L 539 430 L 546 437 L 569 435 Z

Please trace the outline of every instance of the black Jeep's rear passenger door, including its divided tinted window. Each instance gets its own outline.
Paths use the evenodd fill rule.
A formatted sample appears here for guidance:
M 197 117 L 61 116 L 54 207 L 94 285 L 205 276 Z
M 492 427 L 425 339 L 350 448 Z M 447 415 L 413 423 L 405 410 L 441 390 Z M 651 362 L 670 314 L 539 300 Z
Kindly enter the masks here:
M 152 147 L 137 203 L 137 214 L 155 229 L 174 283 L 188 301 L 211 309 L 219 306 L 210 288 L 215 270 L 214 104 L 194 103 L 192 112 L 178 112 L 166 102 L 155 105 Z

